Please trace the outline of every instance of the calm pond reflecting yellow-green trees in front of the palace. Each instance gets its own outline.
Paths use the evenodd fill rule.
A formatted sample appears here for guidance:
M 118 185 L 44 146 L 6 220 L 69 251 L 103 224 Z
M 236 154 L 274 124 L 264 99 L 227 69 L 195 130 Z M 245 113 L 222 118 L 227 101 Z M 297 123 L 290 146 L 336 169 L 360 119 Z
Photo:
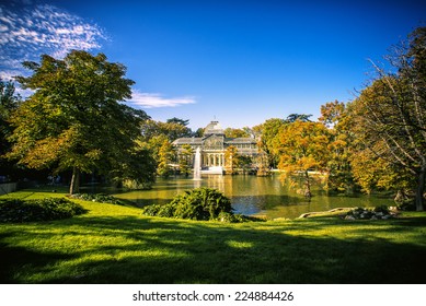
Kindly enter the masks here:
M 279 175 L 257 177 L 249 175 L 209 175 L 202 180 L 173 177 L 159 178 L 151 190 L 138 190 L 114 195 L 141 205 L 168 203 L 177 193 L 197 187 L 209 187 L 222 191 L 231 199 L 235 213 L 264 215 L 268 219 L 298 217 L 302 213 L 327 211 L 334 208 L 393 205 L 389 197 L 356 195 L 327 196 L 319 188 L 312 190 L 309 201 L 280 181 Z

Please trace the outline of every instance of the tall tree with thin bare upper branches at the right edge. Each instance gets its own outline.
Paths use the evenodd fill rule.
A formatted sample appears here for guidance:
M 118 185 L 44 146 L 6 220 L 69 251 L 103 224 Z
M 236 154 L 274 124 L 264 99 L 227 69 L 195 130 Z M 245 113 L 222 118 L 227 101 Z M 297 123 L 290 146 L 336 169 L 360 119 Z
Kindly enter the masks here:
M 393 72 L 373 63 L 377 79 L 354 102 L 358 150 L 411 173 L 418 211 L 424 210 L 426 181 L 425 49 L 426 27 L 419 27 L 388 57 Z

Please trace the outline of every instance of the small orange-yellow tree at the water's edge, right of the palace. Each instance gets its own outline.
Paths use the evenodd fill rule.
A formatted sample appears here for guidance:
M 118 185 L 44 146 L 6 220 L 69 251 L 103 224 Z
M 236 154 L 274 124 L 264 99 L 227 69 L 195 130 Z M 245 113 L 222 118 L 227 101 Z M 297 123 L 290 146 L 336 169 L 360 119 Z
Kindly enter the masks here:
M 283 126 L 278 134 L 275 153 L 279 155 L 278 168 L 287 177 L 302 177 L 301 193 L 311 197 L 309 170 L 326 172 L 329 158 L 329 131 L 324 125 L 296 120 Z

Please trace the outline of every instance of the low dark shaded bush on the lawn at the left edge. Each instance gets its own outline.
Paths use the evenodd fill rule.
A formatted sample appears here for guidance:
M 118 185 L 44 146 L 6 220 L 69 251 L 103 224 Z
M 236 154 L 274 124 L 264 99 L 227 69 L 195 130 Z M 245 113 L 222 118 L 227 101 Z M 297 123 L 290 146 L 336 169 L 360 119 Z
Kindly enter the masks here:
M 39 200 L 1 200 L 0 222 L 22 223 L 33 221 L 50 221 L 67 219 L 85 213 L 80 204 L 64 198 L 47 198 Z

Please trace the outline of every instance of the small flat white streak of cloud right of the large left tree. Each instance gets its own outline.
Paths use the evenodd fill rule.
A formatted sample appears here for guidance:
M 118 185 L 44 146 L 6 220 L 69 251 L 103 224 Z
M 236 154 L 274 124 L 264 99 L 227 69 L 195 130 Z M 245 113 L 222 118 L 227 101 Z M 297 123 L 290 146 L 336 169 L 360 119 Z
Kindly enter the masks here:
M 192 96 L 166 98 L 161 94 L 141 93 L 134 90 L 131 99 L 127 101 L 127 103 L 143 108 L 175 107 L 180 105 L 194 104 L 195 98 Z

